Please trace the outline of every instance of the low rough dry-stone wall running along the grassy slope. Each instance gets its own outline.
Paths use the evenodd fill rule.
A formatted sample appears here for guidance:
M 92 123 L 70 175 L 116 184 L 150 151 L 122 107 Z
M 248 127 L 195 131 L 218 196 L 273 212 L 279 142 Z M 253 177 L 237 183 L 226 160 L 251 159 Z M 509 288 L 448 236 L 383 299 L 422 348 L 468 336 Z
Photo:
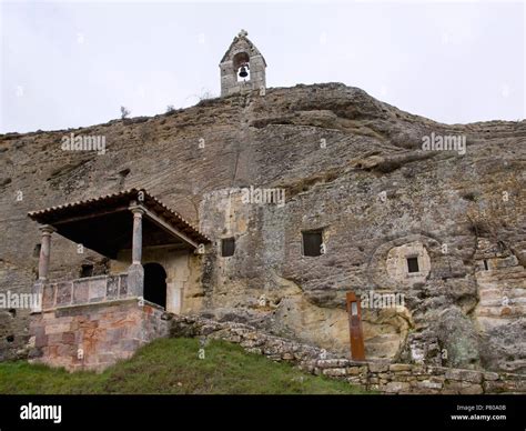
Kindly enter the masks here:
M 295 364 L 306 372 L 345 380 L 384 393 L 526 393 L 526 378 L 520 374 L 407 363 L 356 362 L 336 358 L 323 349 L 263 333 L 243 323 L 216 322 L 196 315 L 173 315 L 170 323 L 171 337 L 230 341 L 247 352 Z

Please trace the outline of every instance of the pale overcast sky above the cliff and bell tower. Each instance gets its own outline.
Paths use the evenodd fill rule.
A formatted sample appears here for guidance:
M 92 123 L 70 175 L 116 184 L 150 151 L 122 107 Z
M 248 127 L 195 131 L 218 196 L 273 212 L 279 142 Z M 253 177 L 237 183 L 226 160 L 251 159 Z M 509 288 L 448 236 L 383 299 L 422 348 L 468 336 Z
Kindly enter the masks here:
M 0 132 L 153 116 L 220 93 L 240 29 L 267 87 L 343 82 L 446 123 L 525 118 L 525 6 L 3 2 Z

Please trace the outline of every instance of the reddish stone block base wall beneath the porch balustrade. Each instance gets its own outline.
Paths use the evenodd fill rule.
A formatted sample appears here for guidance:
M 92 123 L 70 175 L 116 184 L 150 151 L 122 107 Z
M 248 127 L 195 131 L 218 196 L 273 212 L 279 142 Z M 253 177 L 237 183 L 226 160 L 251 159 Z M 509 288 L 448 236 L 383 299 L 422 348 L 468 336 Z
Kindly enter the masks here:
M 30 358 L 69 371 L 102 371 L 169 332 L 164 311 L 138 299 L 61 307 L 31 317 Z

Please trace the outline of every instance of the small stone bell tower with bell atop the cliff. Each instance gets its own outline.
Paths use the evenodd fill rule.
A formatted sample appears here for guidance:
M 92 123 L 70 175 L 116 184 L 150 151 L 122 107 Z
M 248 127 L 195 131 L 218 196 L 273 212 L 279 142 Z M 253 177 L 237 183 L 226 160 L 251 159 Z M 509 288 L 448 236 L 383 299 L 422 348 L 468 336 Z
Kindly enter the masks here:
M 221 96 L 265 88 L 265 59 L 247 36 L 241 30 L 221 59 Z

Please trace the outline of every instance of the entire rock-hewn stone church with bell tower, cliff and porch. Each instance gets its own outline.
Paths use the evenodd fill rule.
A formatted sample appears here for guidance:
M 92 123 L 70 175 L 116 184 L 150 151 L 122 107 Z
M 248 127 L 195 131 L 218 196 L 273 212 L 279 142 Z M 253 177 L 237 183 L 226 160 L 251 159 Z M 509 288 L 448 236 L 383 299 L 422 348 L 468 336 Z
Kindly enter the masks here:
M 0 359 L 101 370 L 170 313 L 348 357 L 352 291 L 370 361 L 526 371 L 525 121 L 266 88 L 245 31 L 219 67 L 221 97 L 195 107 L 0 136 L 0 292 L 41 298 L 0 311 Z M 63 151 L 69 133 L 105 153 Z

